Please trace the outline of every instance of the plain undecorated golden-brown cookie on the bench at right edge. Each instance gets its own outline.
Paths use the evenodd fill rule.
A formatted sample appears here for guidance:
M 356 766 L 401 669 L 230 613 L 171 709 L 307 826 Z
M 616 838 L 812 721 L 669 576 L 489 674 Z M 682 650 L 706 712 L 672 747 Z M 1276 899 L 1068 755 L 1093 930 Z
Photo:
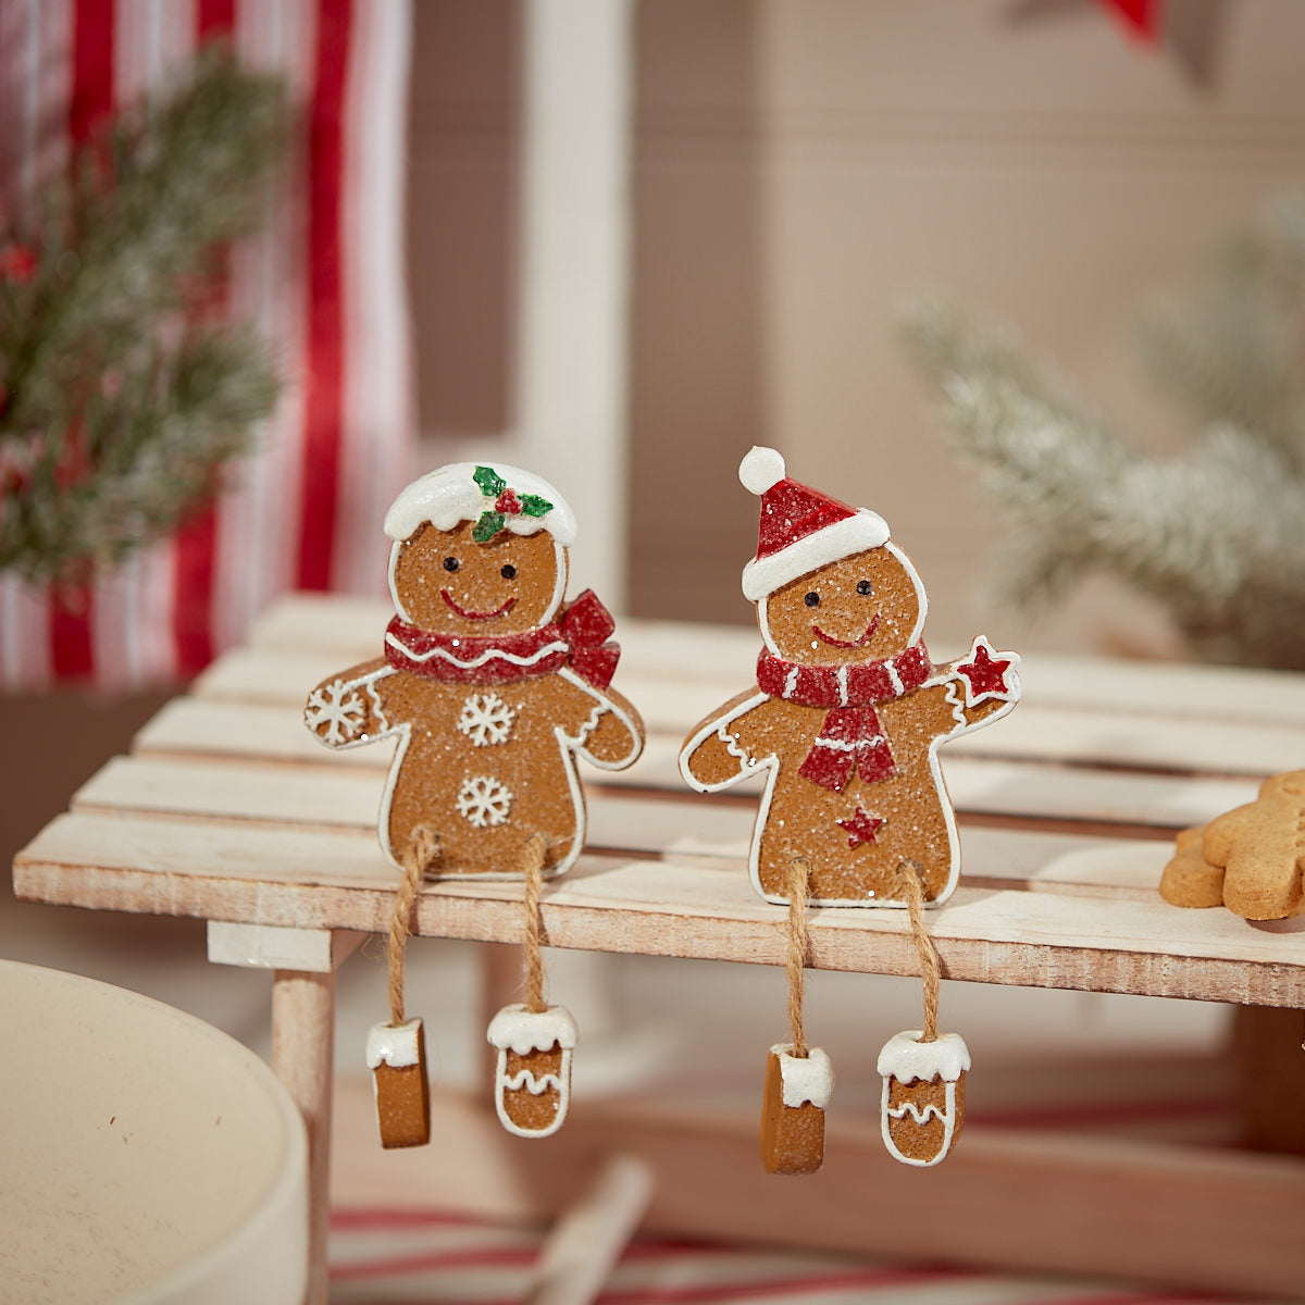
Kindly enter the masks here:
M 1160 878 L 1173 906 L 1225 906 L 1245 920 L 1283 920 L 1305 910 L 1305 770 L 1274 775 L 1259 796 L 1178 834 Z

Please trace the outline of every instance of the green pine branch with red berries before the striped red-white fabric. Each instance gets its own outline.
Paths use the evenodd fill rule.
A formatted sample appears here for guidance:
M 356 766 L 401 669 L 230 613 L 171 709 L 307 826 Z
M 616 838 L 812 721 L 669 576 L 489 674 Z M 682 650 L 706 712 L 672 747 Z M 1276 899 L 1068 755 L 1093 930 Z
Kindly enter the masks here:
M 277 395 L 266 347 L 201 305 L 287 130 L 281 80 L 210 48 L 43 188 L 31 228 L 0 231 L 0 569 L 111 566 L 249 446 Z

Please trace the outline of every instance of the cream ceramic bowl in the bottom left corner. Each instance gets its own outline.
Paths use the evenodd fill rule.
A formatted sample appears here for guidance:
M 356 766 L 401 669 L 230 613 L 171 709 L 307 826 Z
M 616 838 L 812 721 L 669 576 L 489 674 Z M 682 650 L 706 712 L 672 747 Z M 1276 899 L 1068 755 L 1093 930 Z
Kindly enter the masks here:
M 0 960 L 0 1301 L 300 1305 L 307 1144 L 226 1034 Z

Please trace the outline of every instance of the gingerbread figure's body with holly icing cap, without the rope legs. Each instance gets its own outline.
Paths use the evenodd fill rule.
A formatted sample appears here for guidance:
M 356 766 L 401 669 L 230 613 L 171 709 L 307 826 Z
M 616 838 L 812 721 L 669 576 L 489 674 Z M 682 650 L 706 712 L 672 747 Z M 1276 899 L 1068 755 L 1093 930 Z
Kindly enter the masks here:
M 331 748 L 398 736 L 380 814 L 395 865 L 424 826 L 429 877 L 515 877 L 543 833 L 544 874 L 560 874 L 585 843 L 576 757 L 619 770 L 643 746 L 611 688 L 611 616 L 590 590 L 562 602 L 570 508 L 530 472 L 459 462 L 408 485 L 385 532 L 384 655 L 317 685 L 308 728 Z

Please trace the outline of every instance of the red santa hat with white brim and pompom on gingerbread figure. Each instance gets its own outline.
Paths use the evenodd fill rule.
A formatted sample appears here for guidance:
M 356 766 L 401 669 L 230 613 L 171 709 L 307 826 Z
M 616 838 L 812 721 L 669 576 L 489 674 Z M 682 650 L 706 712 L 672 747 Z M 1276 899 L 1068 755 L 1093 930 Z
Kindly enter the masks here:
M 739 463 L 739 479 L 761 496 L 757 556 L 743 569 L 743 592 L 750 603 L 827 562 L 889 540 L 887 522 L 877 512 L 848 508 L 790 480 L 775 449 L 753 445 Z

